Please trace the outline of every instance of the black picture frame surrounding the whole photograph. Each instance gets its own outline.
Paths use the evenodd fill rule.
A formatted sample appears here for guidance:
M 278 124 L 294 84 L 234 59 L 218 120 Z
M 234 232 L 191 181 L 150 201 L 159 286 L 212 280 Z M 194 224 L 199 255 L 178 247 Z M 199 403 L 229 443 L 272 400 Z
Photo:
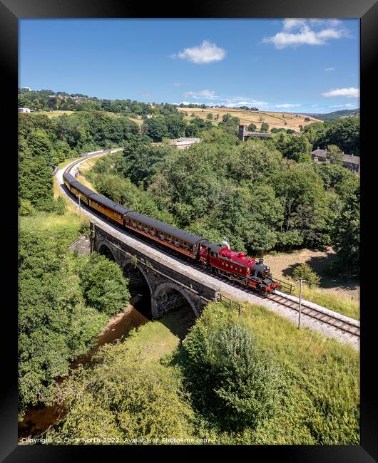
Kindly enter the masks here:
M 16 215 L 16 142 L 17 120 L 15 110 L 16 83 L 18 81 L 18 21 L 26 18 L 357 18 L 360 19 L 360 80 L 361 80 L 361 215 L 362 215 L 362 265 L 361 265 L 361 445 L 359 446 L 250 446 L 243 447 L 247 458 L 276 459 L 287 462 L 374 462 L 378 459 L 378 407 L 377 387 L 374 373 L 374 291 L 376 273 L 369 264 L 374 259 L 375 183 L 373 137 L 376 74 L 378 44 L 378 4 L 377 0 L 266 0 L 265 2 L 207 0 L 192 1 L 187 5 L 175 5 L 155 2 L 152 5 L 123 0 L 1 0 L 0 1 L 0 36 L 2 75 L 6 84 L 3 86 L 4 110 L 11 115 L 4 120 L 3 145 L 9 142 L 9 148 L 3 151 L 1 192 L 2 214 L 6 214 L 1 230 L 3 237 L 3 269 L 8 275 L 4 285 L 3 296 L 9 296 L 9 303 L 3 299 L 3 331 L 6 348 L 3 352 L 3 380 L 0 399 L 1 444 L 0 459 L 6 462 L 67 462 L 84 457 L 83 452 L 96 452 L 96 459 L 109 459 L 114 452 L 120 457 L 131 457 L 134 452 L 149 456 L 160 456 L 163 447 L 58 447 L 17 445 L 17 215 Z M 10 108 L 9 111 L 6 108 Z M 375 156 L 375 159 L 374 159 Z M 9 162 L 11 159 L 11 162 Z M 6 162 L 5 162 L 6 160 Z M 375 183 L 374 183 L 375 180 Z M 8 184 L 6 185 L 6 183 Z M 11 212 L 10 212 L 11 211 Z M 15 212 L 12 214 L 12 212 Z M 14 267 L 13 267 L 14 265 Z M 372 297 L 372 298 L 371 298 Z M 371 298 L 371 299 L 370 299 Z M 372 302 L 371 302 L 372 301 Z M 3 337 L 4 337 L 3 333 Z M 373 355 L 369 355 L 373 353 Z M 164 447 L 165 451 L 177 454 L 180 447 Z M 182 447 L 181 447 L 182 449 Z M 185 448 L 185 452 L 189 449 Z M 232 446 L 222 452 L 237 452 L 239 447 Z M 214 446 L 190 447 L 189 452 L 210 452 Z M 150 453 L 153 452 L 153 453 Z M 189 455 L 188 452 L 188 455 Z M 163 454 L 161 454 L 163 456 Z M 225 456 L 225 454 L 224 454 Z

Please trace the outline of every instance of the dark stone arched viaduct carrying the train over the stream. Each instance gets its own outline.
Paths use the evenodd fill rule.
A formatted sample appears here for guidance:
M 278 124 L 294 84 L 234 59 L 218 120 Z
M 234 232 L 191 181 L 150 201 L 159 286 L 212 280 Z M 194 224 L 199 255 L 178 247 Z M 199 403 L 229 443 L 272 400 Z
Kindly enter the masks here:
M 157 256 L 134 249 L 120 233 L 109 233 L 95 222 L 91 222 L 90 227 L 91 252 L 97 251 L 116 261 L 130 280 L 131 291 L 150 297 L 153 319 L 184 303 L 188 303 L 198 317 L 208 302 L 218 301 L 219 289 L 215 286 L 184 275 Z

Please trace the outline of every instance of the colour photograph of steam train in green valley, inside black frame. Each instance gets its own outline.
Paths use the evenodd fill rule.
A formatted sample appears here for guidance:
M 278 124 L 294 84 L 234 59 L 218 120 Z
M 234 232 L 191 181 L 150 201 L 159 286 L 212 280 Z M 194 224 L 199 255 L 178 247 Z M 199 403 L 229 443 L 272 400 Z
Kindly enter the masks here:
M 18 24 L 17 447 L 361 446 L 360 19 Z

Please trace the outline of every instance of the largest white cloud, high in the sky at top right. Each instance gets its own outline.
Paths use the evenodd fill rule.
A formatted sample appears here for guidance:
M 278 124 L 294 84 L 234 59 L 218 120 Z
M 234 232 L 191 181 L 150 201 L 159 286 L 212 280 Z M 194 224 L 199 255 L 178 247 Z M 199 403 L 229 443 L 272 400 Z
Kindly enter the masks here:
M 285 19 L 282 31 L 275 36 L 263 38 L 262 42 L 273 43 L 275 48 L 280 50 L 287 46 L 325 45 L 330 39 L 346 35 L 347 31 L 337 19 Z

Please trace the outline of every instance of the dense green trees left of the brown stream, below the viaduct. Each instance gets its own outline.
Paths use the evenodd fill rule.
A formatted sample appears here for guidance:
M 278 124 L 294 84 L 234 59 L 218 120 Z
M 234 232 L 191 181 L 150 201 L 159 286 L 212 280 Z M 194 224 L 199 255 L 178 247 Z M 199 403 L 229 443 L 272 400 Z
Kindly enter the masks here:
M 128 301 L 121 269 L 103 256 L 86 262 L 68 253 L 68 239 L 65 230 L 19 233 L 20 415 L 29 404 L 51 400 L 54 378 L 91 348 L 105 314 Z M 93 271 L 99 278 L 91 291 Z

